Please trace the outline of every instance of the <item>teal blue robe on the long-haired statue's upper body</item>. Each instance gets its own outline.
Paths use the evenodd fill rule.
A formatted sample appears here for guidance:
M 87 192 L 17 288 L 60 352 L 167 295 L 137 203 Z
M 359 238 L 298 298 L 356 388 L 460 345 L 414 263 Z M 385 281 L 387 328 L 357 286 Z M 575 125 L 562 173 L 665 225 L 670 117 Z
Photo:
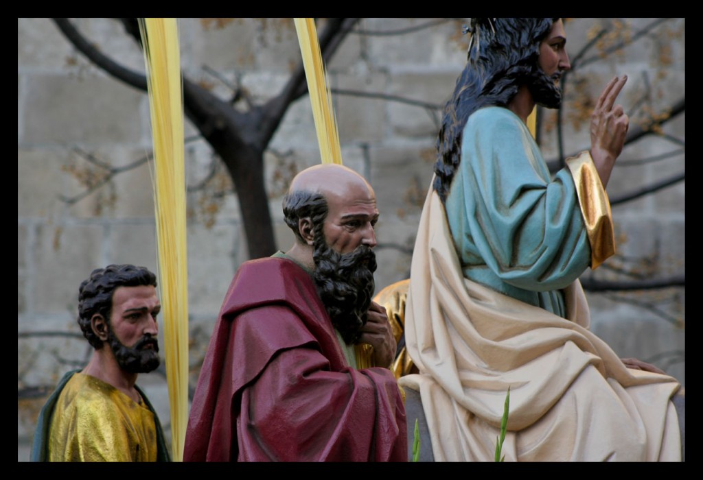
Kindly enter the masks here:
M 550 178 L 527 126 L 484 107 L 463 131 L 446 215 L 464 276 L 565 317 L 562 288 L 591 262 L 568 168 Z

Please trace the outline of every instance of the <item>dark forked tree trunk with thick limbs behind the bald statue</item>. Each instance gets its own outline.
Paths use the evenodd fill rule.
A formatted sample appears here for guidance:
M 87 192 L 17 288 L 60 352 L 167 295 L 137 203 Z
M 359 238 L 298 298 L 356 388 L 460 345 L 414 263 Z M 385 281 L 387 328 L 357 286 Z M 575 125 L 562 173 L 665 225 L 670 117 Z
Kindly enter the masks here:
M 325 61 L 329 61 L 357 18 L 331 18 L 320 34 Z M 134 19 L 120 19 L 127 33 L 139 40 Z M 56 19 L 66 38 L 98 67 L 117 79 L 146 91 L 146 78 L 130 72 L 103 55 L 66 19 Z M 290 104 L 307 93 L 302 59 L 281 93 L 264 105 L 251 105 L 249 111 L 238 112 L 229 102 L 183 76 L 183 107 L 193 126 L 198 128 L 224 162 L 239 197 L 240 213 L 245 226 L 251 258 L 271 255 L 276 251 L 273 222 L 264 181 L 264 151 Z M 237 98 L 237 94 L 235 94 Z

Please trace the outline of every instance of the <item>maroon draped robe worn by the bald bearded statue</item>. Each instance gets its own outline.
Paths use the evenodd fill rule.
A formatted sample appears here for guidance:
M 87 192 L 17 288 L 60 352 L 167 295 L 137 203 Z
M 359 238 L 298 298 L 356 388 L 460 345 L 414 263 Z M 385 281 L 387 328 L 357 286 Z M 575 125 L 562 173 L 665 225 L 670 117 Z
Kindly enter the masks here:
M 407 461 L 391 371 L 347 365 L 309 274 L 282 258 L 234 276 L 195 389 L 184 461 Z

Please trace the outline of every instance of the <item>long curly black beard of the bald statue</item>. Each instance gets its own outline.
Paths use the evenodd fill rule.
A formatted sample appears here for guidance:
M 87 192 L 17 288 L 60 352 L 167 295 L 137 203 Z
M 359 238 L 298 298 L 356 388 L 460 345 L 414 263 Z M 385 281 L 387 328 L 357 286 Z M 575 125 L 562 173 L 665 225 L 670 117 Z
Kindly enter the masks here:
M 320 234 L 316 235 L 314 246 L 313 279 L 318 295 L 344 342 L 354 345 L 368 319 L 375 288 L 376 255 L 366 245 L 350 253 L 337 253 Z

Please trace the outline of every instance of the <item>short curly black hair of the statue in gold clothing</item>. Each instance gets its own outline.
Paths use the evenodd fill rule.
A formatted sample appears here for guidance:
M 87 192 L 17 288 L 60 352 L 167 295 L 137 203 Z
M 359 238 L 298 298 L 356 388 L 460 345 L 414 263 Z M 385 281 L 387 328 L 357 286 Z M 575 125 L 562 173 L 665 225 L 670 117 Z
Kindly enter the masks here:
M 108 265 L 94 269 L 78 288 L 78 324 L 83 336 L 96 349 L 103 346 L 103 340 L 93 333 L 91 318 L 101 314 L 110 322 L 112 294 L 121 286 L 156 286 L 156 275 L 146 267 L 134 265 Z

